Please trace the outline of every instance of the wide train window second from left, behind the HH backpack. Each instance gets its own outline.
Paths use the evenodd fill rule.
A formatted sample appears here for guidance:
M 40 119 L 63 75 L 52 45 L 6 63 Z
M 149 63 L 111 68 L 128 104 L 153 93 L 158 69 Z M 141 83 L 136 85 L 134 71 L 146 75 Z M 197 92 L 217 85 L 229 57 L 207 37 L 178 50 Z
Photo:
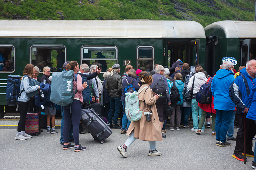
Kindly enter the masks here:
M 64 45 L 32 45 L 30 47 L 30 63 L 37 66 L 40 72 L 45 66 L 51 71 L 62 71 L 66 62 L 66 47 Z

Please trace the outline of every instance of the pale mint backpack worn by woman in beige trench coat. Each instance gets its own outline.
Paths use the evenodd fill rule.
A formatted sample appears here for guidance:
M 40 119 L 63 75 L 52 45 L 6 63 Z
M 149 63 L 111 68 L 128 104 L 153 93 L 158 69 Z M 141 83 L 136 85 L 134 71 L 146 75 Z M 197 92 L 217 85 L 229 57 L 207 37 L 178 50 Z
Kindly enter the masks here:
M 140 92 L 142 92 L 144 87 Z M 139 94 L 140 92 L 134 91 L 132 93 L 125 93 L 125 114 L 128 120 L 137 121 L 141 119 L 142 111 L 139 109 Z

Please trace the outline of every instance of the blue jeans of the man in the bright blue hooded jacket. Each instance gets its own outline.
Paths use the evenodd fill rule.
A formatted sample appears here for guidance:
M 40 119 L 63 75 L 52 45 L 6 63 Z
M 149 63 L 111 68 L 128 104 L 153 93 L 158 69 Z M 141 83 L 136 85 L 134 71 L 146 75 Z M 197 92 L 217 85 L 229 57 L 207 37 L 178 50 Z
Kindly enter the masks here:
M 233 115 L 232 110 L 216 110 L 216 140 L 221 141 L 222 143 L 226 142 L 227 131 L 231 122 Z

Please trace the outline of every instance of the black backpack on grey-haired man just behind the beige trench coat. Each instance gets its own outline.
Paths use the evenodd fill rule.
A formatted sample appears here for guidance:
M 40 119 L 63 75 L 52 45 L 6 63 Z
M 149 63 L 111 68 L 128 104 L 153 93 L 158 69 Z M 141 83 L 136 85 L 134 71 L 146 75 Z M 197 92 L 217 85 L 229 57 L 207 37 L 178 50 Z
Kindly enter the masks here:
M 155 92 L 155 94 L 161 94 L 159 99 L 156 100 L 156 104 L 159 103 L 166 103 L 167 101 L 167 93 L 166 93 L 166 88 L 165 84 L 162 81 L 163 76 L 153 85 L 152 90 Z

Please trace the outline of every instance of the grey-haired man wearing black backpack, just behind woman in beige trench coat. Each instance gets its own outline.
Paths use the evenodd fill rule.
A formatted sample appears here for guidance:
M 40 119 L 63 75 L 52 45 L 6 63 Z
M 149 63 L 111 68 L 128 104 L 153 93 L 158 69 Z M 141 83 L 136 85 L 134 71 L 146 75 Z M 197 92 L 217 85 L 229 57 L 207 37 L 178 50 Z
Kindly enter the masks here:
M 155 74 L 153 75 L 153 82 L 150 85 L 150 87 L 152 88 L 153 92 L 159 94 L 157 91 L 162 91 L 160 92 L 162 94 L 160 94 L 161 96 L 159 97 L 159 99 L 156 101 L 156 109 L 157 109 L 157 113 L 158 113 L 158 117 L 160 120 L 160 124 L 161 124 L 161 128 L 163 127 L 163 123 L 164 121 L 166 121 L 166 113 L 165 113 L 165 105 L 166 103 L 168 103 L 168 105 L 170 105 L 170 94 L 169 94 L 169 87 L 168 87 L 168 82 L 167 82 L 167 78 L 165 76 L 163 76 L 164 73 L 164 68 L 162 65 L 158 65 L 155 68 Z M 162 84 L 163 83 L 163 84 Z M 164 87 L 161 87 L 161 84 Z M 155 86 L 154 86 L 155 85 Z M 157 88 L 161 87 L 161 88 Z M 166 135 L 162 134 L 162 137 L 165 138 Z

